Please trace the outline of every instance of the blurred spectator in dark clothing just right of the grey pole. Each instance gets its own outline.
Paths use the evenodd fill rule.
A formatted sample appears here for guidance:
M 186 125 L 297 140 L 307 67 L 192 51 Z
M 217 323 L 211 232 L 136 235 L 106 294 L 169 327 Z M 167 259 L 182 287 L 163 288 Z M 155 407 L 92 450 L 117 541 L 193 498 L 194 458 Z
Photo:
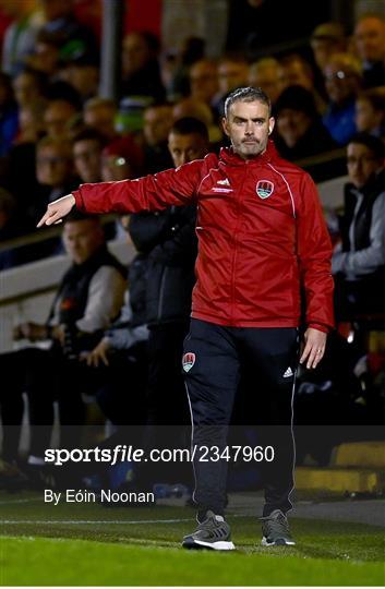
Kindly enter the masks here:
M 147 32 L 130 33 L 123 39 L 122 96 L 149 96 L 165 100 L 158 63 L 159 40 Z

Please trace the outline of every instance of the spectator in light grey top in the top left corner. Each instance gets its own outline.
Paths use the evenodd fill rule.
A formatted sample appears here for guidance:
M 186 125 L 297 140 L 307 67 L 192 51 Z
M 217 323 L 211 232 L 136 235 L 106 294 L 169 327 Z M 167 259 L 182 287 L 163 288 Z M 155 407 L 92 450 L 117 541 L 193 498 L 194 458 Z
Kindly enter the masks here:
M 2 45 L 2 71 L 9 75 L 17 74 L 34 50 L 37 33 L 44 23 L 43 14 L 36 11 L 35 5 L 34 0 L 1 2 L 1 10 L 13 19 Z

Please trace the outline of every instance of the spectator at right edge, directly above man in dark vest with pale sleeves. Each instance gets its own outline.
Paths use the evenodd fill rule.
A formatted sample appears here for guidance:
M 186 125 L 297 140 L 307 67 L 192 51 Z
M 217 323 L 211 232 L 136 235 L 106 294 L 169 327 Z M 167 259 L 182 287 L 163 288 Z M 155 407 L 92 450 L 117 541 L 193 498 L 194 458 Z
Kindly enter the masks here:
M 357 130 L 385 140 L 385 88 L 371 88 L 356 100 Z

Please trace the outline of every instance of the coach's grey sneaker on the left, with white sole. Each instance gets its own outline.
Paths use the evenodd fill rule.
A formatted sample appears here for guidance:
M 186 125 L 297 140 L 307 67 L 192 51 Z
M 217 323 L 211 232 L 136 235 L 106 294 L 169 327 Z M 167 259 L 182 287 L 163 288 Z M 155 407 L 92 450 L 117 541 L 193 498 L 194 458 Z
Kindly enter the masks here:
M 222 516 L 213 512 L 206 513 L 206 519 L 198 524 L 196 530 L 183 538 L 182 546 L 194 550 L 234 550 L 231 542 L 230 526 Z

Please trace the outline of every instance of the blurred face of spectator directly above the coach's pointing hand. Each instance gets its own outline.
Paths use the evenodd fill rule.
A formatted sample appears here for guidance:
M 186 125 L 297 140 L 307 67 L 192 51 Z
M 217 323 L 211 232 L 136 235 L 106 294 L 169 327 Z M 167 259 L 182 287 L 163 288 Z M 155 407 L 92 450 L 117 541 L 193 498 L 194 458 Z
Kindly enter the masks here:
M 36 156 L 36 177 L 40 184 L 57 188 L 71 176 L 72 159 L 67 148 L 59 145 L 40 147 Z

